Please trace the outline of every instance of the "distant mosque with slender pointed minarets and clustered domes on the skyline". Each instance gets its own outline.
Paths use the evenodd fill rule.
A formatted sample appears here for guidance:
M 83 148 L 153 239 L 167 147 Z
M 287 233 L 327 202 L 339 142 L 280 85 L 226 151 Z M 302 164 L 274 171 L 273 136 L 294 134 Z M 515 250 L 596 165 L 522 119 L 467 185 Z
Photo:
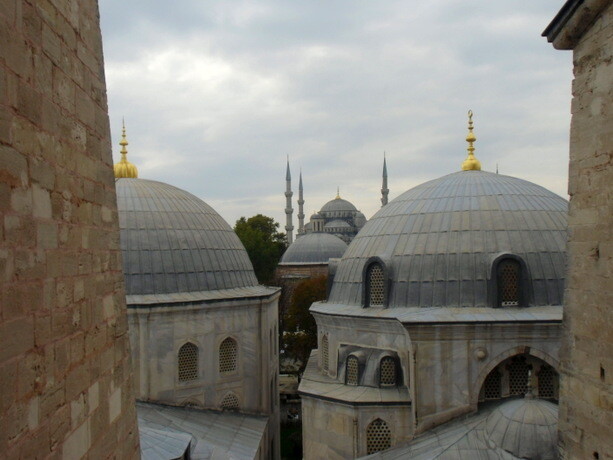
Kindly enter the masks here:
M 292 175 L 289 168 L 289 159 L 287 161 L 287 171 L 285 173 L 285 215 L 286 225 L 285 232 L 287 235 L 288 244 L 294 241 L 293 232 L 293 213 L 292 208 Z M 381 204 L 387 204 L 389 189 L 387 188 L 387 163 L 383 158 L 383 183 L 381 187 Z M 347 201 L 340 196 L 340 190 L 337 188 L 336 197 L 328 201 L 322 206 L 319 212 L 313 214 L 306 224 L 304 223 L 304 189 L 302 186 L 302 171 L 300 172 L 300 180 L 298 183 L 298 233 L 296 238 L 309 233 L 327 233 L 334 235 L 349 244 L 358 234 L 360 229 L 366 224 L 366 216 L 362 214 L 350 201 Z

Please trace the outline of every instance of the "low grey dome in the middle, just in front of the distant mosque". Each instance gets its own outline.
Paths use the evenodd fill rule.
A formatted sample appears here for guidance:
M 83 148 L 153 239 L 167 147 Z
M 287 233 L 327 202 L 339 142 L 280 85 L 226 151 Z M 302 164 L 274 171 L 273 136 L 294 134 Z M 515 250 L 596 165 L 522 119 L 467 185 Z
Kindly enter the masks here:
M 329 233 L 307 233 L 294 241 L 283 254 L 279 265 L 328 263 L 342 257 L 347 245 Z

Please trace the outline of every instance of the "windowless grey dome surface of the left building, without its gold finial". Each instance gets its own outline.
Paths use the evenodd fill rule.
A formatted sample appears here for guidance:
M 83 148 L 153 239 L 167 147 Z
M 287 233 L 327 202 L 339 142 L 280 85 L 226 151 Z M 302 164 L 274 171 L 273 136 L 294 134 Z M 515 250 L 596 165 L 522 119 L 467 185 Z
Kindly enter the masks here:
M 236 233 L 204 201 L 162 182 L 115 184 L 128 295 L 258 285 Z

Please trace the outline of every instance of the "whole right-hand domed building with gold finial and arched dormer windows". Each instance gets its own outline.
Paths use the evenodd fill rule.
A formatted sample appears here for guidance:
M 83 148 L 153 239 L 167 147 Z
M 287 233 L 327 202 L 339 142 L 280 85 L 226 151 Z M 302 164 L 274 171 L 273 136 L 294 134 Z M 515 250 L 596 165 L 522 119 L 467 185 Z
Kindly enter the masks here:
M 482 171 L 472 112 L 466 141 L 330 265 L 304 458 L 557 458 L 568 203 Z

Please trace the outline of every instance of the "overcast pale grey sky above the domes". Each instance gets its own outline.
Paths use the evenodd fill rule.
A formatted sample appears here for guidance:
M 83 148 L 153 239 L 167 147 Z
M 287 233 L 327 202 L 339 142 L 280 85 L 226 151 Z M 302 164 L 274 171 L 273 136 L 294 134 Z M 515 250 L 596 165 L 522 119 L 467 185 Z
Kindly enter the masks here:
M 287 155 L 307 216 L 338 186 L 371 217 L 383 152 L 390 199 L 458 171 L 472 109 L 484 170 L 566 198 L 572 56 L 540 36 L 562 3 L 102 0 L 115 161 L 125 117 L 140 177 L 230 225 L 283 228 Z

